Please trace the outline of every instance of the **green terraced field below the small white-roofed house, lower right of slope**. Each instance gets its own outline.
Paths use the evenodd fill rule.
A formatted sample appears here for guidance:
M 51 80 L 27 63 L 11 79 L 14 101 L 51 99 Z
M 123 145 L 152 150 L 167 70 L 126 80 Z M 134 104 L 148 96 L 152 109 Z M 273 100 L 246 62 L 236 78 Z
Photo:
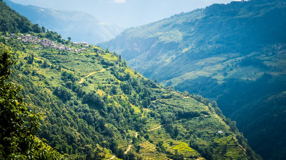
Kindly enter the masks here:
M 243 150 L 237 145 L 234 139 L 228 137 L 215 137 L 215 142 L 219 143 L 219 146 L 214 148 L 214 155 L 218 160 L 237 159 L 239 156 L 243 156 Z M 227 147 L 225 144 L 227 143 Z

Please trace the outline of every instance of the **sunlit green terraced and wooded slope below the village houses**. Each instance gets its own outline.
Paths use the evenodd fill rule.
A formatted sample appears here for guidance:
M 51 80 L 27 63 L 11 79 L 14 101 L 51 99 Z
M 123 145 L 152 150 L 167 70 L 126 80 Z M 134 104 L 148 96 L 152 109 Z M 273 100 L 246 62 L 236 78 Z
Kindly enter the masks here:
M 39 50 L 10 38 L 1 49 L 14 51 L 11 81 L 43 113 L 38 136 L 73 159 L 260 159 L 208 99 L 161 89 L 118 55 L 95 46 Z

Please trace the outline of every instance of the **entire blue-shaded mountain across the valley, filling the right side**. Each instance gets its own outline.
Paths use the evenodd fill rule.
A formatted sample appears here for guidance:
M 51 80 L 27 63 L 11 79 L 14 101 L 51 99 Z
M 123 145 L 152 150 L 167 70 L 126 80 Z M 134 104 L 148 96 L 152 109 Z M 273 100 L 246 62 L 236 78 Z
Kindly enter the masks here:
M 98 45 L 162 85 L 217 101 L 257 153 L 284 159 L 285 9 L 275 0 L 213 4 Z

